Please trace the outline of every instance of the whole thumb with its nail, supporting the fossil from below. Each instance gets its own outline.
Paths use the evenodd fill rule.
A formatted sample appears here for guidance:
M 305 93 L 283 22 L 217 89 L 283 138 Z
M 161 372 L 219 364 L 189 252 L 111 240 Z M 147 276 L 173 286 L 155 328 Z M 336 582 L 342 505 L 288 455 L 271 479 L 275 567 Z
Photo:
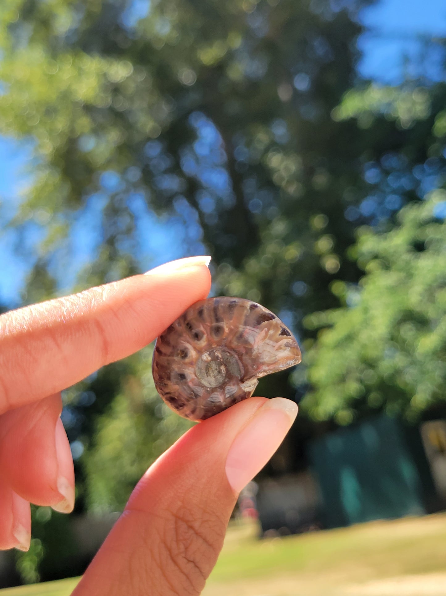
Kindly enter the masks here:
M 250 398 L 190 429 L 147 470 L 73 595 L 200 594 L 238 493 L 296 414 L 288 399 Z

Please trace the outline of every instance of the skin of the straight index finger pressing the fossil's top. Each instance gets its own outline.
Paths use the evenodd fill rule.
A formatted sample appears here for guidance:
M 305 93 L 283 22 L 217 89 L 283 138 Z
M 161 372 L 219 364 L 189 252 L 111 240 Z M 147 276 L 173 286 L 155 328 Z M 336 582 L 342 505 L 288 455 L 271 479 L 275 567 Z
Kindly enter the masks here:
M 205 266 L 135 275 L 0 316 L 0 414 L 152 342 L 211 288 Z

